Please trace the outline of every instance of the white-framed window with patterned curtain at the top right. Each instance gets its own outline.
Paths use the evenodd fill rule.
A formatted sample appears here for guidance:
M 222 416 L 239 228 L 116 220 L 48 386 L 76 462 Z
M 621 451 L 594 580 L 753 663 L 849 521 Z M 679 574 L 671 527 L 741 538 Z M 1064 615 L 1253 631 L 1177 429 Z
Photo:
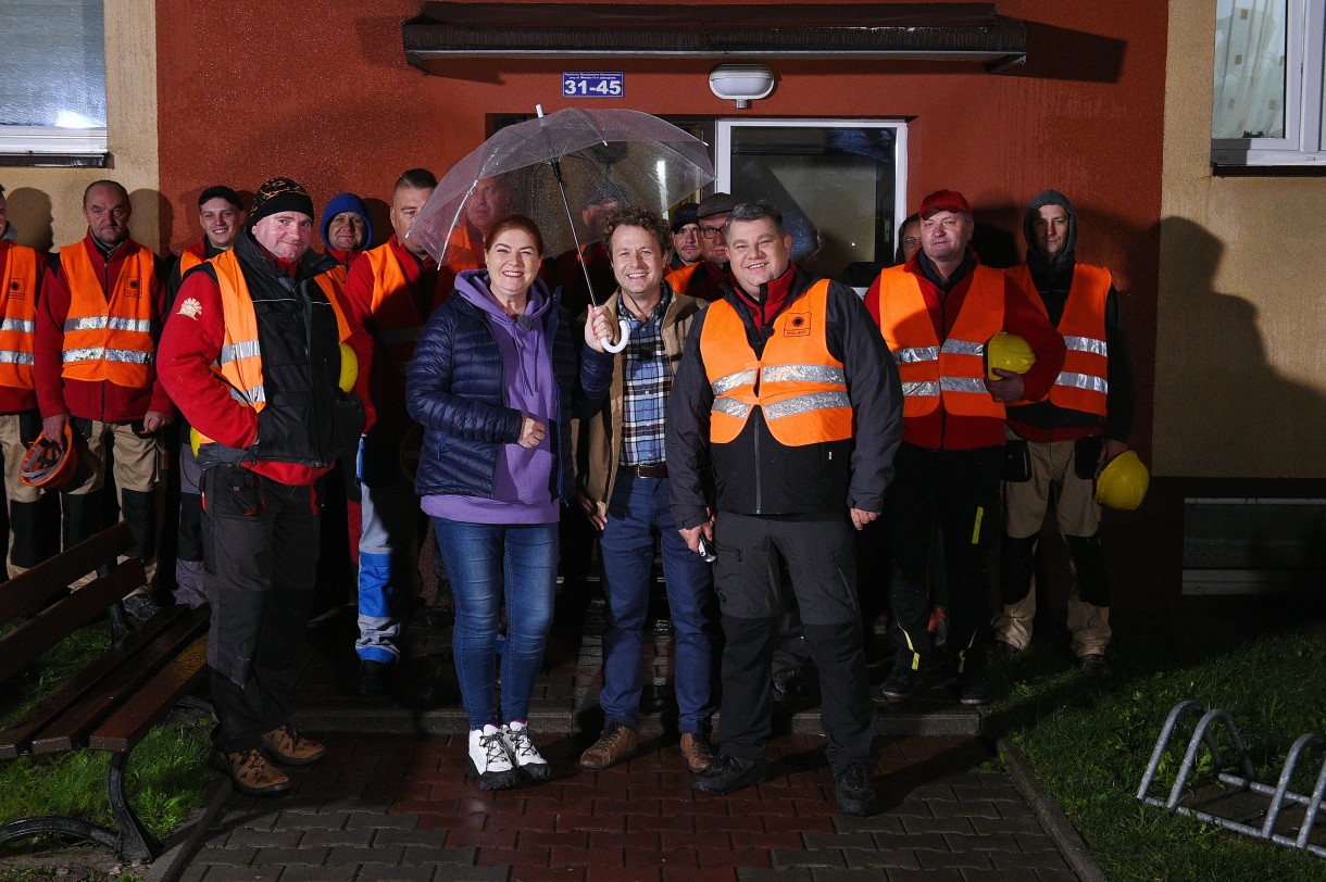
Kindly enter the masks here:
M 1326 164 L 1326 0 L 1216 0 L 1211 159 Z

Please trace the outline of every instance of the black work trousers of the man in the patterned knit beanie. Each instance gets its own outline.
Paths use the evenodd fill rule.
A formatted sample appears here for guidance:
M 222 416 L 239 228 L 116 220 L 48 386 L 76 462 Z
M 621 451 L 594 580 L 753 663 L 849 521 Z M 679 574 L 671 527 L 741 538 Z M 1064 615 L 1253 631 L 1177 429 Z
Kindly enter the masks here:
M 203 554 L 211 583 L 207 663 L 225 752 L 289 722 L 294 656 L 313 603 L 318 498 L 243 466 L 203 473 Z

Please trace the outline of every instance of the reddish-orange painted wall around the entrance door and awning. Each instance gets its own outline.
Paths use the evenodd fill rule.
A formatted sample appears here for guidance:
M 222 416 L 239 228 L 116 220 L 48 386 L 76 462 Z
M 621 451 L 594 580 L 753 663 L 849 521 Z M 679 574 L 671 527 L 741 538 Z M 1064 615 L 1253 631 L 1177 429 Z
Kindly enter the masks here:
M 619 4 L 621 5 L 621 4 Z M 349 189 L 386 199 L 411 166 L 444 172 L 477 146 L 488 114 L 565 105 L 561 72 L 626 72 L 627 106 L 676 117 L 910 121 L 908 201 L 961 189 L 987 236 L 1021 246 L 1021 209 L 1044 187 L 1077 204 L 1078 256 L 1114 269 L 1139 368 L 1135 441 L 1150 448 L 1166 4 L 1004 0 L 1034 23 L 1030 62 L 975 65 L 781 61 L 774 94 L 737 111 L 708 90 L 708 60 L 476 61 L 456 77 L 410 68 L 400 23 L 418 0 L 318 4 L 158 0 L 163 241 L 196 238 L 212 183 L 252 192 L 289 175 L 321 207 Z M 379 208 L 381 222 L 386 222 Z M 375 220 L 378 220 L 375 217 Z M 379 233 L 379 238 L 385 233 Z

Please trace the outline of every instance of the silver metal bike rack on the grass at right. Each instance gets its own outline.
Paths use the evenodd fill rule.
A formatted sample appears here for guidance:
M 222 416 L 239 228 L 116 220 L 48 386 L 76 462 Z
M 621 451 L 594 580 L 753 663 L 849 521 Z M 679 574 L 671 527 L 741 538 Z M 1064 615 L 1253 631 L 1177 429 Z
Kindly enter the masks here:
M 1179 775 L 1175 777 L 1174 787 L 1170 788 L 1170 797 L 1167 800 L 1162 800 L 1155 796 L 1148 796 L 1147 791 L 1151 789 L 1151 783 L 1155 779 L 1160 760 L 1164 756 L 1166 750 L 1170 747 L 1170 740 L 1174 738 L 1175 727 L 1177 726 L 1179 719 L 1187 714 L 1200 714 L 1201 718 L 1197 720 L 1192 738 L 1188 740 L 1188 750 L 1183 755 L 1183 764 L 1179 767 Z M 1229 731 L 1231 742 L 1233 743 L 1235 752 L 1237 754 L 1236 760 L 1238 771 L 1241 772 L 1241 775 L 1219 772 L 1216 777 L 1221 784 L 1236 787 L 1244 792 L 1270 797 L 1270 803 L 1264 812 L 1257 812 L 1257 814 L 1265 816 L 1265 821 L 1262 821 L 1261 826 L 1252 826 L 1236 818 L 1213 814 L 1211 812 L 1179 804 L 1179 800 L 1188 784 L 1188 777 L 1192 775 L 1192 768 L 1196 764 L 1197 750 L 1203 743 L 1205 743 L 1207 748 L 1211 751 L 1211 759 L 1215 768 L 1219 769 L 1224 765 L 1220 755 L 1220 747 L 1216 743 L 1216 735 L 1212 731 L 1212 726 L 1216 722 L 1223 723 Z M 1170 711 L 1170 715 L 1166 718 L 1164 727 L 1160 730 L 1160 738 L 1156 740 L 1156 747 L 1151 752 L 1151 763 L 1147 765 L 1146 775 L 1142 776 L 1142 785 L 1138 788 L 1138 799 L 1150 805 L 1159 805 L 1160 808 L 1170 809 L 1177 814 L 1187 814 L 1200 821 L 1205 821 L 1207 824 L 1215 824 L 1216 826 L 1227 830 L 1233 830 L 1236 833 L 1252 836 L 1258 840 L 1266 840 L 1274 842 L 1276 845 L 1299 849 L 1315 854 L 1317 857 L 1326 858 L 1326 848 L 1313 845 L 1307 841 L 1317 824 L 1317 813 L 1321 809 L 1322 796 L 1326 795 L 1326 758 L 1323 758 L 1322 769 L 1317 775 L 1317 787 L 1313 789 L 1311 796 L 1296 793 L 1289 789 L 1289 783 L 1294 775 L 1296 767 L 1298 765 L 1298 760 L 1302 758 L 1303 751 L 1313 746 L 1326 746 L 1326 738 L 1313 732 L 1298 736 L 1293 747 L 1289 750 L 1289 755 L 1285 758 L 1284 768 L 1280 769 L 1278 784 L 1274 787 L 1262 784 L 1253 780 L 1254 772 L 1252 768 L 1252 760 L 1248 758 L 1242 735 L 1238 732 L 1238 726 L 1235 723 L 1229 711 L 1219 709 L 1204 711 L 1201 705 L 1197 702 L 1179 702 L 1174 706 L 1174 710 Z M 1280 820 L 1281 810 L 1285 808 L 1286 803 L 1302 805 L 1306 809 L 1303 812 L 1297 837 L 1276 833 L 1276 822 Z

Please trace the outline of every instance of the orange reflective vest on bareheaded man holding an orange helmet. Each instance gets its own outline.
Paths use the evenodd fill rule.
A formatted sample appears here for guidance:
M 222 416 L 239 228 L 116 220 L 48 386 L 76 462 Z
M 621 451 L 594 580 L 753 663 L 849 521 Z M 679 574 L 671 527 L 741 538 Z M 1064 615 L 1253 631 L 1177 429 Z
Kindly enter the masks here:
M 156 257 L 135 248 L 125 257 L 119 277 L 102 291 L 85 242 L 60 249 L 60 271 L 69 286 L 65 319 L 64 369 L 69 380 L 114 383 L 131 389 L 152 381 L 152 282 Z

